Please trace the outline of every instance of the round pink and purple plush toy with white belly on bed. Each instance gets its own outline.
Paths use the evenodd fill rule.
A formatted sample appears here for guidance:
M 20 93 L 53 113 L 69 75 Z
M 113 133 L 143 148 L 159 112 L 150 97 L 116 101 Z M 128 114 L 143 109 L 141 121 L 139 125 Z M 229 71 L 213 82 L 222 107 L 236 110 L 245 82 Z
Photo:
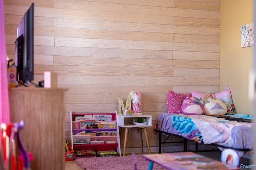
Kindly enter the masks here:
M 204 105 L 195 97 L 187 97 L 181 105 L 182 113 L 187 115 L 203 115 Z

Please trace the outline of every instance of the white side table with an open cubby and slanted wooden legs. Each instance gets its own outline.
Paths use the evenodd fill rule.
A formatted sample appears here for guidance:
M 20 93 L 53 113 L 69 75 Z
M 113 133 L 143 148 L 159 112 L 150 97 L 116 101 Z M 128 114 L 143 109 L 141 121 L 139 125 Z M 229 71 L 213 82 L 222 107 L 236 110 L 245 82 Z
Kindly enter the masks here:
M 144 117 L 147 120 L 147 124 L 146 125 L 134 125 L 134 124 L 132 124 L 132 119 L 136 118 L 136 117 L 138 117 L 138 118 Z M 118 115 L 117 118 L 118 118 L 118 126 L 122 127 L 122 130 L 121 130 L 121 133 L 120 133 L 121 134 L 120 139 L 122 138 L 123 129 L 125 129 L 123 156 L 125 156 L 128 130 L 129 130 L 129 128 L 132 128 L 132 127 L 138 127 L 139 128 L 142 153 L 144 153 L 143 141 L 142 141 L 142 129 L 144 130 L 145 137 L 146 137 L 146 142 L 147 142 L 147 145 L 148 145 L 148 151 L 149 151 L 149 154 L 151 154 L 150 153 L 150 145 L 149 145 L 149 141 L 148 141 L 148 133 L 147 133 L 147 128 L 146 127 L 152 126 L 152 116 L 151 115 L 133 115 L 133 116 Z

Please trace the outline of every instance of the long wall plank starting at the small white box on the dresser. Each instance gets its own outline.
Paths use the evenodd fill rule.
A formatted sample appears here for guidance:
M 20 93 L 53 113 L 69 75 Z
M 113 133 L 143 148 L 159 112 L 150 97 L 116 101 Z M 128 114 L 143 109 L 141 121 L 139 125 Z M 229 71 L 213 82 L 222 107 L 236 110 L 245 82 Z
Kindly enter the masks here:
M 58 84 L 95 84 L 95 85 L 219 85 L 218 77 L 150 77 L 150 76 L 58 76 Z

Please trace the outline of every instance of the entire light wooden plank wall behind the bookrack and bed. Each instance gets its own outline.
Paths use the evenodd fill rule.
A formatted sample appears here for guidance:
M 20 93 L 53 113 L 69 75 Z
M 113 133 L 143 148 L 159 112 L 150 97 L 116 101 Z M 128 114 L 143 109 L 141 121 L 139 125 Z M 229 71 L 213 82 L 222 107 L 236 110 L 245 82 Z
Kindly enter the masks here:
M 167 112 L 168 90 L 219 92 L 220 0 L 4 0 L 11 59 L 32 2 L 34 82 L 57 72 L 58 87 L 69 88 L 67 113 L 113 112 L 132 90 L 154 125 Z M 148 133 L 157 147 L 153 126 Z M 140 147 L 137 129 L 129 139 L 128 148 Z

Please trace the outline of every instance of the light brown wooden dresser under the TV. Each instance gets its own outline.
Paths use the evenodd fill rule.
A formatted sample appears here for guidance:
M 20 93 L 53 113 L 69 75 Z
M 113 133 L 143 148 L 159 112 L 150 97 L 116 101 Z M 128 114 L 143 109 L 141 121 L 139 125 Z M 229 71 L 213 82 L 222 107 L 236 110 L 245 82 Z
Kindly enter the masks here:
M 64 170 L 64 88 L 9 88 L 10 121 L 24 121 L 21 140 L 32 170 Z

